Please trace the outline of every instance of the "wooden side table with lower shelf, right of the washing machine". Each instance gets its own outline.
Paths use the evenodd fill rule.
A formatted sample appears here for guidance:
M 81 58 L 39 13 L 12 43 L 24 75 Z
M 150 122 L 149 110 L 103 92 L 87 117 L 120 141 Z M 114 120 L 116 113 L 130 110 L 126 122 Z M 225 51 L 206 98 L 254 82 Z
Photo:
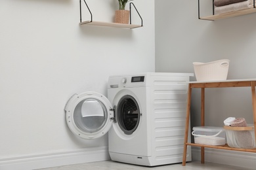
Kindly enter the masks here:
M 190 120 L 190 105 L 191 105 L 191 93 L 192 88 L 201 88 L 201 126 L 205 126 L 205 88 L 236 88 L 236 87 L 251 87 L 252 105 L 253 105 L 253 124 L 256 127 L 256 93 L 255 93 L 255 79 L 244 79 L 244 80 L 223 80 L 223 81 L 212 81 L 212 82 L 188 82 L 188 104 L 186 108 L 186 129 L 184 136 L 184 150 L 182 166 L 186 165 L 186 150 L 187 146 L 200 146 L 201 147 L 201 163 L 204 163 L 204 148 L 216 148 L 224 150 L 236 150 L 242 152 L 256 152 L 256 148 L 231 148 L 227 144 L 221 146 L 211 146 L 205 144 L 188 143 L 188 126 Z M 256 137 L 256 130 L 255 137 Z

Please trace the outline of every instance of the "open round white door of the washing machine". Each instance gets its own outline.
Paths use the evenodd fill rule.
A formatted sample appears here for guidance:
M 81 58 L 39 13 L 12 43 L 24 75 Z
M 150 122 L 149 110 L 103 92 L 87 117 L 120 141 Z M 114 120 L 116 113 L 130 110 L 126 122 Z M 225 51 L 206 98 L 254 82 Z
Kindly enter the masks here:
M 83 139 L 105 135 L 114 120 L 114 111 L 108 99 L 96 92 L 73 95 L 66 104 L 66 122 L 70 130 Z

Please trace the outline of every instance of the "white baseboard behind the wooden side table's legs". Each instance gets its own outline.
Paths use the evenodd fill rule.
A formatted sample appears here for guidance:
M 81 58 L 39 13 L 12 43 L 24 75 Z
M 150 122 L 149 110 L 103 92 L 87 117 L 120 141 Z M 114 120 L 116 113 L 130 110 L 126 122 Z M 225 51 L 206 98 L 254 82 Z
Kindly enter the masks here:
M 201 151 L 199 147 L 192 147 L 192 160 L 201 161 Z M 205 148 L 205 162 L 255 169 L 256 154 L 251 152 Z

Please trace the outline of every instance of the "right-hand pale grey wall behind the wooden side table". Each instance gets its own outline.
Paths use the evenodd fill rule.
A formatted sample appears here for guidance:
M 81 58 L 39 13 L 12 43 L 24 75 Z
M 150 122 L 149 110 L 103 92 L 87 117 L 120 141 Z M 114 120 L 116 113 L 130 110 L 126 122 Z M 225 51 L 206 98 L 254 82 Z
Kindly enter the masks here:
M 212 1 L 200 2 L 202 16 L 211 15 Z M 155 5 L 157 72 L 194 73 L 194 61 L 230 59 L 228 79 L 256 77 L 256 23 L 253 22 L 256 14 L 211 22 L 198 20 L 198 0 L 158 0 Z M 250 92 L 250 88 L 205 90 L 205 125 L 223 126 L 228 116 L 244 117 L 247 123 L 253 123 Z M 200 90 L 192 92 L 191 114 L 192 126 L 200 126 Z M 239 152 L 230 155 L 238 154 L 241 155 Z M 243 166 L 235 160 L 224 163 Z

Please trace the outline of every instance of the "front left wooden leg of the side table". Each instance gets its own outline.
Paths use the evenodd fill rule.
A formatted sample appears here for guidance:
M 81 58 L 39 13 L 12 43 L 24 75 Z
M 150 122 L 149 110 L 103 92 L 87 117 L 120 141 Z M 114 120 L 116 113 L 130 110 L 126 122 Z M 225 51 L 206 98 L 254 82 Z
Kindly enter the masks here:
M 189 118 L 190 118 L 191 92 L 192 92 L 192 88 L 190 84 L 188 84 L 188 101 L 187 101 L 188 103 L 186 106 L 186 126 L 185 126 L 182 166 L 186 165 L 186 150 L 188 147 L 186 144 L 188 143 L 188 126 L 189 126 Z

